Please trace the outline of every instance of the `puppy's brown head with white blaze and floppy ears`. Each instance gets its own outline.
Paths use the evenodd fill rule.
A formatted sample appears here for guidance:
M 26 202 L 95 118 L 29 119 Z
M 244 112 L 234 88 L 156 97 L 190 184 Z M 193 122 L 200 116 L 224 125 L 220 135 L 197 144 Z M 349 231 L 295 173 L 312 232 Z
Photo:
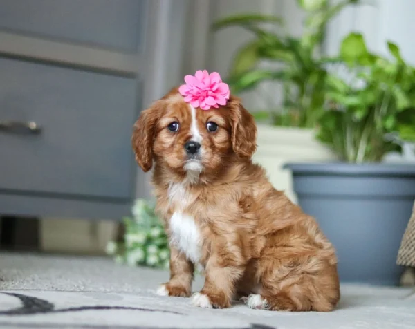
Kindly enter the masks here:
M 257 127 L 239 98 L 225 106 L 194 109 L 174 88 L 134 125 L 132 144 L 143 171 L 158 162 L 172 171 L 217 172 L 227 158 L 250 158 L 256 149 Z

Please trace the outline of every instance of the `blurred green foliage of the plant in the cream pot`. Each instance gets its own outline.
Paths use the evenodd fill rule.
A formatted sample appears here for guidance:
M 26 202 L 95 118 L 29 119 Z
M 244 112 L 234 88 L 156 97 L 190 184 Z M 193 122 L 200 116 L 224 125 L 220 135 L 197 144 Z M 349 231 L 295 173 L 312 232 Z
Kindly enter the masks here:
M 334 6 L 328 0 L 297 2 L 307 14 L 301 37 L 274 32 L 275 26 L 284 26 L 284 21 L 268 15 L 225 17 L 216 21 L 213 28 L 217 31 L 229 26 L 239 26 L 254 35 L 254 39 L 243 45 L 234 57 L 226 79 L 232 93 L 249 91 L 265 81 L 282 82 L 282 106 L 275 108 L 276 105 L 270 102 L 271 111 L 257 112 L 257 118 L 270 117 L 273 124 L 280 126 L 314 127 L 323 111 L 322 86 L 327 75 L 325 64 L 338 60 L 319 53 L 326 24 L 342 8 L 358 3 L 358 0 L 342 0 Z M 271 28 L 263 27 L 264 24 Z M 261 68 L 264 62 L 282 66 Z

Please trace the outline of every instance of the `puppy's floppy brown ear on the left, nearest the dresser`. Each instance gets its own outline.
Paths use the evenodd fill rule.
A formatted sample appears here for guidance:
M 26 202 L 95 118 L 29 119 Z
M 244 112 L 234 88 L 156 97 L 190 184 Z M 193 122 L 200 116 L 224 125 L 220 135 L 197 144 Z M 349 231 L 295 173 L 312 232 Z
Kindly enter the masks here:
M 131 143 L 136 154 L 136 161 L 144 172 L 153 167 L 153 142 L 161 111 L 163 111 L 163 105 L 159 100 L 154 102 L 149 109 L 142 111 L 140 118 L 134 124 Z

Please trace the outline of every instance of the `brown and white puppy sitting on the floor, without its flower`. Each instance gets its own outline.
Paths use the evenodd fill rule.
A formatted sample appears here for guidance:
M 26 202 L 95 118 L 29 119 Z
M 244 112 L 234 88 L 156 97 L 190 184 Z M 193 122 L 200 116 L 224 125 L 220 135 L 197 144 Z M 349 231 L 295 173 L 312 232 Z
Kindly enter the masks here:
M 156 211 L 170 239 L 170 280 L 158 293 L 202 308 L 331 311 L 340 299 L 335 250 L 315 220 L 252 163 L 257 127 L 241 101 L 219 109 L 184 102 L 177 88 L 142 111 L 133 150 L 153 171 Z

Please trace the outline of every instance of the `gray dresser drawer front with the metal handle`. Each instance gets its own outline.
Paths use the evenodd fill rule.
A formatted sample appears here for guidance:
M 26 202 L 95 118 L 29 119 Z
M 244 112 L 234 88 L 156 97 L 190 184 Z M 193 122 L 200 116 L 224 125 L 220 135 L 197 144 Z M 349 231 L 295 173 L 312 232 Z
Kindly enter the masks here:
M 35 1 L 36 2 L 36 1 Z M 0 191 L 131 198 L 137 82 L 0 57 Z

